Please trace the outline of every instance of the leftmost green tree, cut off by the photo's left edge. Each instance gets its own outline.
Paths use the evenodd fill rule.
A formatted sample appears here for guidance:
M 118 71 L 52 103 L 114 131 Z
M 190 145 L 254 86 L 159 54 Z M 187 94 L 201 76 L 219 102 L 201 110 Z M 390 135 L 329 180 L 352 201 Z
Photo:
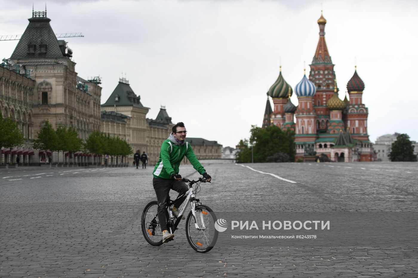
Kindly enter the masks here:
M 18 123 L 10 116 L 4 119 L 0 112 L 0 149 L 2 147 L 8 148 L 12 153 L 14 147 L 23 145 L 25 141 L 23 133 L 18 128 Z M 10 161 L 10 163 L 12 162 Z

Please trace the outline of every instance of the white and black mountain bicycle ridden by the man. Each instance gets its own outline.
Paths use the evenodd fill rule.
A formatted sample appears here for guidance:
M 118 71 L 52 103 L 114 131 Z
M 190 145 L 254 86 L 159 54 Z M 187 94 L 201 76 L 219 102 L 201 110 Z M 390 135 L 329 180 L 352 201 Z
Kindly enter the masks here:
M 169 199 L 166 213 L 168 219 L 167 229 L 171 233 L 178 229 L 178 224 L 190 204 L 191 209 L 186 219 L 187 241 L 195 251 L 201 253 L 208 252 L 214 247 L 218 239 L 218 231 L 214 226 L 217 218 L 211 208 L 201 204 L 200 200 L 196 199 L 196 194 L 200 191 L 200 184 L 207 181 L 204 178 L 199 178 L 196 181 L 182 179 L 182 181 L 189 183 L 189 191 L 186 193 L 187 197 L 184 201 L 183 207 L 180 209 L 178 217 L 173 215 L 172 207 L 174 202 L 177 201 L 178 198 L 183 197 L 185 194 L 179 196 L 174 201 Z M 196 184 L 195 188 L 193 188 L 194 184 Z M 145 206 L 141 217 L 142 232 L 145 240 L 153 246 L 160 246 L 163 244 L 163 232 L 161 232 L 161 227 L 158 221 L 157 209 L 157 201 L 150 201 Z M 166 242 L 171 240 L 173 239 L 166 240 Z

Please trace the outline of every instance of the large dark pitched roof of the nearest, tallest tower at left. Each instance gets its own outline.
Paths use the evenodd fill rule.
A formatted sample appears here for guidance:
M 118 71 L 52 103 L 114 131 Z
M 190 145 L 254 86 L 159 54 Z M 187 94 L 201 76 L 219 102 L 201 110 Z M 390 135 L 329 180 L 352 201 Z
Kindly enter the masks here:
M 28 58 L 63 58 L 65 57 L 65 41 L 58 41 L 46 17 L 29 18 L 28 27 L 20 38 L 10 59 Z M 60 48 L 61 44 L 61 48 Z M 28 46 L 33 45 L 34 53 L 28 53 Z M 40 45 L 46 45 L 45 53 L 40 52 Z

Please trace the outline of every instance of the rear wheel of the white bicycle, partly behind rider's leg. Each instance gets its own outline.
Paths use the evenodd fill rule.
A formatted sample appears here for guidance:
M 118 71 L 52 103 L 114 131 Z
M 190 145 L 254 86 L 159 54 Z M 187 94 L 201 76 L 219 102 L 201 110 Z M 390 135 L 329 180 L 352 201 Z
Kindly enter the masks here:
M 151 201 L 146 206 L 141 217 L 142 233 L 150 245 L 163 244 L 163 232 L 157 216 L 158 203 Z

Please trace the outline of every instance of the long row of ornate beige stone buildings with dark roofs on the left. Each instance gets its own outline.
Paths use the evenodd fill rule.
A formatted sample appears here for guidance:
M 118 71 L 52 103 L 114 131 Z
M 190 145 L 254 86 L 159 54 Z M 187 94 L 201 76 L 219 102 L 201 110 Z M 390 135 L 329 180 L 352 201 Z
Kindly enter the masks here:
M 0 66 L 0 112 L 18 122 L 27 143 L 11 150 L 2 148 L 0 165 L 46 162 L 53 156 L 54 163 L 92 163 L 90 154 L 77 152 L 58 154 L 33 149 L 33 139 L 48 120 L 56 129 L 59 125 L 74 126 L 85 140 L 93 130 L 126 140 L 133 151 L 145 151 L 148 163 L 158 161 L 163 140 L 168 138 L 173 123 L 165 107 L 158 116 L 146 118 L 150 108 L 144 107 L 126 79 L 120 79 L 115 90 L 100 105 L 102 87 L 99 77 L 82 79 L 71 60 L 73 51 L 64 40 L 58 40 L 44 12 L 32 12 L 29 24 L 10 59 Z M 199 159 L 221 158 L 216 141 L 188 138 Z M 193 143 L 191 141 L 194 141 Z M 104 163 L 104 157 L 101 158 Z M 128 158 L 133 161 L 133 154 Z M 115 163 L 109 158 L 108 163 Z M 187 161 L 184 161 L 187 163 Z

